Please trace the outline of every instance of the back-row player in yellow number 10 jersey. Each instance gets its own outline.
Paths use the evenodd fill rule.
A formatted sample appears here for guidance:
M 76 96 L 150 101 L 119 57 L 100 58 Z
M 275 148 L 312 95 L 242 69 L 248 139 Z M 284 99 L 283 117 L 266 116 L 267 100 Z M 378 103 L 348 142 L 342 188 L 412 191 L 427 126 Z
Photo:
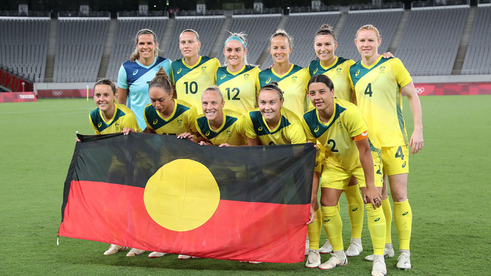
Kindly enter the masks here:
M 179 49 L 182 59 L 172 62 L 172 83 L 177 99 L 184 100 L 201 112 L 201 95 L 207 87 L 215 84 L 216 68 L 220 62 L 216 58 L 199 56 L 201 42 L 196 31 L 184 30 L 179 36 Z

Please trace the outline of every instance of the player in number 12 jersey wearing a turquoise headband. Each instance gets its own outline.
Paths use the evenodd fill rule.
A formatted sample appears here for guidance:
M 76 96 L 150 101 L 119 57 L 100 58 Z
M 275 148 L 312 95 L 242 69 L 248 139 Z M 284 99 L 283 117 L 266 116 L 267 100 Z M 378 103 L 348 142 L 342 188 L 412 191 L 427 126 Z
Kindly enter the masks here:
M 225 40 L 224 55 L 226 65 L 216 70 L 216 85 L 225 93 L 228 109 L 247 114 L 257 107 L 260 86 L 256 79 L 261 70 L 247 64 L 245 34 L 231 34 Z

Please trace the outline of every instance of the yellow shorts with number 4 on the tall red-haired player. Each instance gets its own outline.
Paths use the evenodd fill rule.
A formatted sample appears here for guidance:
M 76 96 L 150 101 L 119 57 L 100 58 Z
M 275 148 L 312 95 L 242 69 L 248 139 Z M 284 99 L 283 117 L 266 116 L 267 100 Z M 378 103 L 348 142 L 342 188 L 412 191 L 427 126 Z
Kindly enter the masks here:
M 409 147 L 382 147 L 384 174 L 409 173 Z

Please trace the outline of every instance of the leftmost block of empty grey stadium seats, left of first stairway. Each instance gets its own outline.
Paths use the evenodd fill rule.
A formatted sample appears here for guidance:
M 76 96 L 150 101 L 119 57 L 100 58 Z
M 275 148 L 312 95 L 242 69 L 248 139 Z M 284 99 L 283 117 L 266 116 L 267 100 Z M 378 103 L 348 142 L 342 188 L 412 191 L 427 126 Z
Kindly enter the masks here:
M 50 18 L 0 19 L 0 64 L 35 82 L 44 80 Z

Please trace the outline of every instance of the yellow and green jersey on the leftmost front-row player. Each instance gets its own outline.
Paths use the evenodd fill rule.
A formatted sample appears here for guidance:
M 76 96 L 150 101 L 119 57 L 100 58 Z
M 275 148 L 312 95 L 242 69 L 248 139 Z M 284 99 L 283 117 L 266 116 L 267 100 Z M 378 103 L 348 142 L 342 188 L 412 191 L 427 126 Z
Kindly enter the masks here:
M 137 132 L 142 131 L 138 126 L 137 117 L 133 111 L 122 104 L 115 104 L 115 106 L 113 118 L 109 122 L 104 121 L 99 107 L 88 114 L 88 120 L 97 135 L 121 132 L 125 127 L 135 129 Z

